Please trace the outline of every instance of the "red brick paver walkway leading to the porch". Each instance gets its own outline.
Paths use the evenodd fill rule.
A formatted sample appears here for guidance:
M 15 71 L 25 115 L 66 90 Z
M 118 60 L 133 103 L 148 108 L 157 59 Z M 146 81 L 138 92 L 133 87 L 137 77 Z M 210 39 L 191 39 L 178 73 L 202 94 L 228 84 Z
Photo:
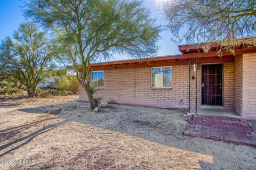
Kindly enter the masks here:
M 242 118 L 192 115 L 188 118 L 188 125 L 183 134 L 256 147 L 256 134 L 252 125 Z

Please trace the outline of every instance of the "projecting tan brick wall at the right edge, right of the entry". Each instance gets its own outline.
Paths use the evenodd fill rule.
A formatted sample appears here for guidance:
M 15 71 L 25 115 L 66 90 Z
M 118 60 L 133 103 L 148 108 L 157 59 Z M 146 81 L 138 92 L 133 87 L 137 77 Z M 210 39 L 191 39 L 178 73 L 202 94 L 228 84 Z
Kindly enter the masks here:
M 256 53 L 235 57 L 235 111 L 256 120 Z

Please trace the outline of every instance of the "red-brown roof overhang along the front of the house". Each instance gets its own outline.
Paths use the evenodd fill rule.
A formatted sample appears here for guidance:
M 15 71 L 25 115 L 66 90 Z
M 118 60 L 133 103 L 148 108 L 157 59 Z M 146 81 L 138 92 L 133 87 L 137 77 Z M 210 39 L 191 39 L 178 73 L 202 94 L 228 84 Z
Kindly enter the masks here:
M 164 64 L 169 63 L 173 65 L 182 65 L 188 62 L 189 59 L 194 58 L 220 58 L 217 54 L 218 51 L 218 43 L 213 44 L 211 50 L 209 53 L 204 53 L 202 50 L 198 50 L 196 45 L 196 48 L 191 47 L 189 45 L 191 50 L 189 50 L 190 53 L 184 53 L 180 55 L 170 55 L 170 56 L 158 56 L 158 57 L 149 57 L 149 58 L 138 58 L 138 59 L 131 59 L 131 60 L 122 60 L 122 61 L 111 61 L 111 62 L 101 62 L 101 63 L 92 63 L 92 70 L 105 70 L 105 69 L 125 69 L 129 67 L 133 67 L 134 65 L 140 65 L 141 67 L 146 66 L 154 66 L 157 63 L 158 64 Z M 179 48 L 182 50 L 188 50 L 188 45 L 180 45 Z M 193 48 L 193 49 L 192 49 Z M 198 47 L 199 48 L 199 47 Z M 239 49 L 235 50 L 236 55 L 241 55 L 245 53 L 256 53 L 256 47 L 246 47 L 243 46 Z M 233 56 L 233 54 L 222 51 L 222 57 L 225 56 Z M 233 57 L 234 58 L 234 57 Z M 205 60 L 204 60 L 205 61 Z M 70 68 L 70 66 L 68 66 Z

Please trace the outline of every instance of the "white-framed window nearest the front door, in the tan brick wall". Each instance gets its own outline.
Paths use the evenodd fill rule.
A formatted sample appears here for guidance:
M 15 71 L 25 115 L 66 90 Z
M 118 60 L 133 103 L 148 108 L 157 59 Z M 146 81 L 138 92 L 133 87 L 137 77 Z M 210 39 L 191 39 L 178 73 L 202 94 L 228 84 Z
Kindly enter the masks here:
M 152 88 L 172 87 L 172 67 L 152 67 L 151 68 Z

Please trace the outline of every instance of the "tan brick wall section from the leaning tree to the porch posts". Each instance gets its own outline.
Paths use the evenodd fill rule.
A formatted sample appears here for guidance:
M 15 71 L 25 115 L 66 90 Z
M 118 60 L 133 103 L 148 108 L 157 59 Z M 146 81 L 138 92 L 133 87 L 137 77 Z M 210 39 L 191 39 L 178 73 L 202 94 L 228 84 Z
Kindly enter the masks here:
M 104 89 L 97 89 L 94 96 L 108 103 L 187 108 L 188 65 L 173 66 L 172 76 L 171 89 L 153 89 L 150 67 L 105 70 Z M 82 87 L 79 99 L 87 100 Z

